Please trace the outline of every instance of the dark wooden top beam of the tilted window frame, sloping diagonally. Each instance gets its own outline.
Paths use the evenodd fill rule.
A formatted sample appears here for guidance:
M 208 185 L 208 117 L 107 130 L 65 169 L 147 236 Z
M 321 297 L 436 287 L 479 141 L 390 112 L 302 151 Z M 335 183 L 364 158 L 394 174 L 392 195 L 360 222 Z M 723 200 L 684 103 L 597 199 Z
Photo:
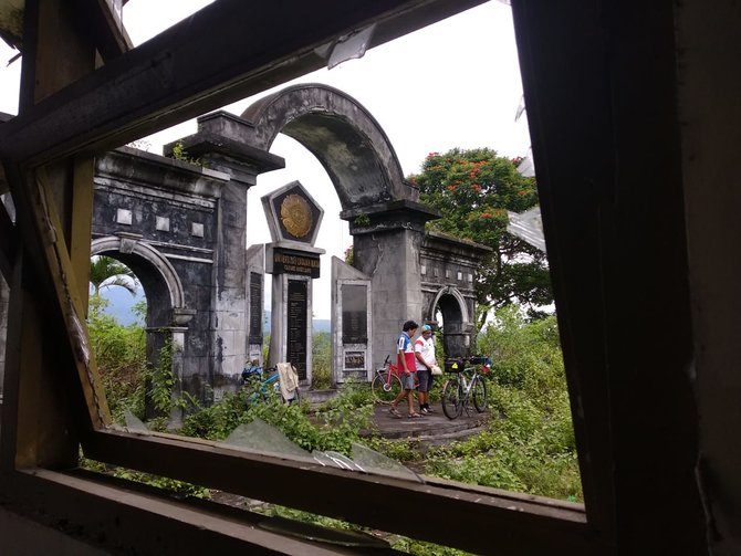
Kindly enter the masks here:
M 322 67 L 337 38 L 372 22 L 373 46 L 481 1 L 217 0 L 3 124 L 0 158 L 117 147 Z

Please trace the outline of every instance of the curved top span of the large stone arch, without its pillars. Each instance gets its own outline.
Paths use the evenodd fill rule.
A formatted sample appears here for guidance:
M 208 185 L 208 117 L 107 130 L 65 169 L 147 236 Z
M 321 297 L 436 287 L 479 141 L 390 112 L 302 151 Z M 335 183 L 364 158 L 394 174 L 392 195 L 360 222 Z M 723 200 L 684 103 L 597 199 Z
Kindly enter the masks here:
M 295 85 L 252 104 L 253 147 L 269 150 L 279 133 L 294 138 L 324 166 L 344 211 L 418 199 L 404 180 L 386 133 L 355 98 L 322 84 Z

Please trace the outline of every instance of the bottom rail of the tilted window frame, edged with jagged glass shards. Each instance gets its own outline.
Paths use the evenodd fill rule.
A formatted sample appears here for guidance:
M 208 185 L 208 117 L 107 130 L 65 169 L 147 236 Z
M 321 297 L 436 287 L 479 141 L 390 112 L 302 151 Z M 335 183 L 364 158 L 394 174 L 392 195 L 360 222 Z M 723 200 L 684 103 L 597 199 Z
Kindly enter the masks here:
M 476 554 L 490 552 L 492 538 L 497 554 L 501 555 L 545 554 L 554 546 L 570 555 L 595 554 L 597 539 L 587 527 L 581 504 L 432 478 L 426 478 L 427 482 L 420 484 L 155 433 L 94 431 L 83 438 L 83 450 L 86 457 L 97 461 Z M 301 496 L 296 496 L 299 491 Z M 369 512 L 368 504 L 383 510 Z M 415 518 L 408 520 L 411 507 Z

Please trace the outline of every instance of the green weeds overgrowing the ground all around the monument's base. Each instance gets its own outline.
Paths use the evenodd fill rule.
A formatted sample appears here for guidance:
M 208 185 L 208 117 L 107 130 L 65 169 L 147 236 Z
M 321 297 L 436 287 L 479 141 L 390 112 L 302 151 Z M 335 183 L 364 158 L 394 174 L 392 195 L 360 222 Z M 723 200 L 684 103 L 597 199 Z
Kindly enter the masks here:
M 123 422 L 124 411 L 128 410 L 144 419 L 145 385 L 152 385 L 153 378 L 159 376 L 146 366 L 144 331 L 136 325 L 118 325 L 102 314 L 97 303 L 91 308 L 91 334 L 114 418 Z M 365 385 L 352 385 L 328 403 L 313 408 L 306 402 L 282 405 L 276 399 L 248 405 L 240 391 L 208 407 L 191 399 L 180 400 L 189 415 L 179 432 L 223 440 L 237 426 L 259 417 L 306 450 L 348 454 L 351 443 L 361 440 L 422 474 L 580 501 L 575 440 L 555 317 L 528 322 L 516 306 L 504 307 L 481 333 L 479 352 L 493 358 L 492 370 L 486 377 L 493 413 L 487 430 L 425 454 L 413 440 L 361 440 L 361 431 L 370 428 L 373 413 Z M 317 363 L 330 365 L 328 360 Z M 171 384 L 161 377 L 158 380 Z M 439 396 L 439 382 L 432 391 L 434 399 Z M 167 403 L 169 397 L 160 395 L 158 399 Z M 167 415 L 168 408 L 157 409 Z M 165 424 L 164 419 L 150 423 L 159 429 Z

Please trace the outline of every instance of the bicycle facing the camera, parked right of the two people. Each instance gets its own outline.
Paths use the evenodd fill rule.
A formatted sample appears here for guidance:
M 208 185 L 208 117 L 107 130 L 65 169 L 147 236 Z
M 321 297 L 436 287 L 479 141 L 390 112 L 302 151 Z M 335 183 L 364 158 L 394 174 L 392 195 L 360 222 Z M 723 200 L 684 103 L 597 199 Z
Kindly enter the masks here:
M 470 364 L 466 367 L 463 364 Z M 480 366 L 480 367 L 479 367 Z M 470 416 L 469 402 L 479 413 L 487 409 L 487 384 L 481 374 L 489 373 L 491 359 L 488 357 L 470 357 L 468 359 L 453 359 L 446 361 L 446 371 L 456 376 L 446 380 L 442 386 L 442 412 L 448 419 L 458 419 L 466 409 Z M 466 377 L 467 371 L 472 371 L 470 381 Z

